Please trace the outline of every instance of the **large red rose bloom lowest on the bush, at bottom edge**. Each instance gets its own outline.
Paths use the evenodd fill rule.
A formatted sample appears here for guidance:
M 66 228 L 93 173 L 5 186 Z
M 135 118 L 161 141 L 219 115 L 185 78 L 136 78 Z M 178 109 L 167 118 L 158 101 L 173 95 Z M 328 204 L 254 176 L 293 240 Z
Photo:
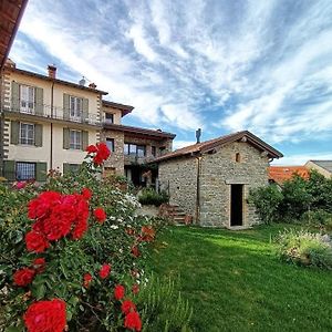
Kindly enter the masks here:
M 65 302 L 59 299 L 31 304 L 23 315 L 28 332 L 63 332 Z

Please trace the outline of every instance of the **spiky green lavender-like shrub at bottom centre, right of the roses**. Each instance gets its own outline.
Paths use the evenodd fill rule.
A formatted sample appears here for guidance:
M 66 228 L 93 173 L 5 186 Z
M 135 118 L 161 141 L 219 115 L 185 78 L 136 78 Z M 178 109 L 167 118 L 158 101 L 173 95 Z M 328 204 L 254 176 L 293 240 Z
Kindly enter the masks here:
M 142 331 L 191 331 L 193 308 L 175 289 L 176 282 L 170 278 L 162 280 L 151 276 L 142 287 L 136 300 L 142 312 Z

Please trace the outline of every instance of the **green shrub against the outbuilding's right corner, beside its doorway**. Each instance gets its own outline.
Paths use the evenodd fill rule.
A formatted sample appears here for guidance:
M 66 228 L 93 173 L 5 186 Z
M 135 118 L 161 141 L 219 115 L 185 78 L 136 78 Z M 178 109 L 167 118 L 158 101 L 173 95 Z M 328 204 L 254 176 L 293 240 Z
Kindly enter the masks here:
M 249 196 L 249 203 L 255 204 L 260 219 L 264 224 L 279 220 L 279 205 L 283 195 L 276 185 L 252 189 Z

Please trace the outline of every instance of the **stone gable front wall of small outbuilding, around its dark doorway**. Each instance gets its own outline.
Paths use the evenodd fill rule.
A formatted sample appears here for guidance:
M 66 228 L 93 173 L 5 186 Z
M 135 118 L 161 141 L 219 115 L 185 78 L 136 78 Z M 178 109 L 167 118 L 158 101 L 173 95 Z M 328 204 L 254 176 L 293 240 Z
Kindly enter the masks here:
M 239 154 L 239 162 L 236 155 Z M 235 142 L 205 154 L 200 167 L 201 226 L 230 227 L 230 187 L 243 185 L 243 226 L 259 222 L 247 203 L 250 188 L 268 185 L 268 157 L 248 143 Z

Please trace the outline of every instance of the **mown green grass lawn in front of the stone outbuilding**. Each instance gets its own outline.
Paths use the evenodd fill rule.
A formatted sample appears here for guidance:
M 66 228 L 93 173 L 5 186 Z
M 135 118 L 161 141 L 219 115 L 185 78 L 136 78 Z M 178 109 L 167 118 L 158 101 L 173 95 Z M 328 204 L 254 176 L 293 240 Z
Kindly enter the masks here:
M 152 269 L 180 277 L 194 331 L 332 331 L 332 273 L 281 262 L 270 237 L 284 227 L 169 227 Z

